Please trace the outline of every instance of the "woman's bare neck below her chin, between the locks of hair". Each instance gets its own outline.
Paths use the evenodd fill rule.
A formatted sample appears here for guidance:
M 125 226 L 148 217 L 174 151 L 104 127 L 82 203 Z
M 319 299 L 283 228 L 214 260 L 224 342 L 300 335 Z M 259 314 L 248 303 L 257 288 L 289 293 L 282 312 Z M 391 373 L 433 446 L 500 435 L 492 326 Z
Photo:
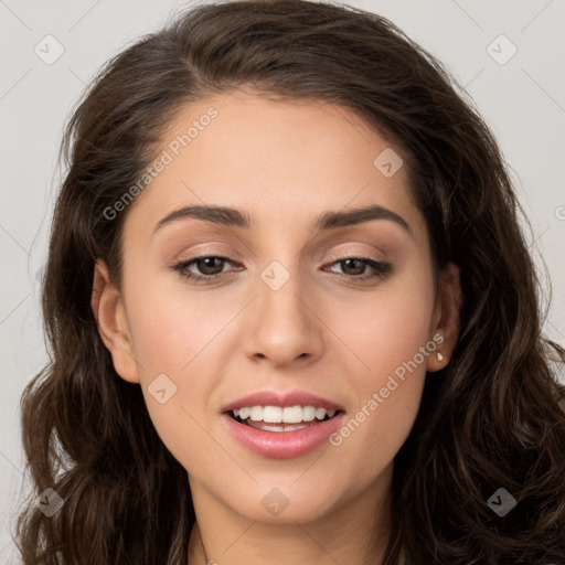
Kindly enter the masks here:
M 392 467 L 383 471 L 379 486 L 364 490 L 332 514 L 307 523 L 246 519 L 227 509 L 191 478 L 198 522 L 190 539 L 189 564 L 381 564 L 388 537 L 391 478 Z

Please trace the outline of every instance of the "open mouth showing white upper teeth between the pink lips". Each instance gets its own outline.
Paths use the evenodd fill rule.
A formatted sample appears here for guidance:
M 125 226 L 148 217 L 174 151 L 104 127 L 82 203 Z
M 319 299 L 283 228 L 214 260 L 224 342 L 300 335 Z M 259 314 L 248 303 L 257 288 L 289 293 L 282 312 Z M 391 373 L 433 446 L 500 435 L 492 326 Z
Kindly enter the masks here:
M 313 406 L 250 406 L 228 412 L 235 422 L 263 431 L 297 431 L 330 420 L 342 411 Z

